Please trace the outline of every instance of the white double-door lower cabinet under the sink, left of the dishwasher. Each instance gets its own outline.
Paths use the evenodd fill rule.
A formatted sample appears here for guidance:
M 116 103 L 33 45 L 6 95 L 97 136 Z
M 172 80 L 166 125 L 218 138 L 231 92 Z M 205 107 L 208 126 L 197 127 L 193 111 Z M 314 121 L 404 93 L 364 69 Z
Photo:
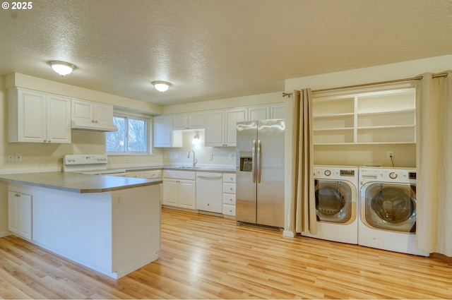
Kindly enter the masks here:
M 195 172 L 163 171 L 163 205 L 196 209 Z

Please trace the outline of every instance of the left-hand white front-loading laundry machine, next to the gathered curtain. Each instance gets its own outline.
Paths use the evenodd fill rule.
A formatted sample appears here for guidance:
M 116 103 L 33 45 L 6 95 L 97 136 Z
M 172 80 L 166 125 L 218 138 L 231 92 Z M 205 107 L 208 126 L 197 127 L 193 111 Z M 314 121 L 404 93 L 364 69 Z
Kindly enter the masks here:
M 316 239 L 358 243 L 358 167 L 314 166 Z

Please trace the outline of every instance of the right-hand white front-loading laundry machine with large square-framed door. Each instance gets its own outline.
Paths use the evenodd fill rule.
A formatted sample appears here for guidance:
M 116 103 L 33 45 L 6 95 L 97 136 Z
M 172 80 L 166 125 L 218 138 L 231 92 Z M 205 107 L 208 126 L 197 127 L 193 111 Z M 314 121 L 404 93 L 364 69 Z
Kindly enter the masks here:
M 416 169 L 359 168 L 358 244 L 429 256 L 416 250 Z

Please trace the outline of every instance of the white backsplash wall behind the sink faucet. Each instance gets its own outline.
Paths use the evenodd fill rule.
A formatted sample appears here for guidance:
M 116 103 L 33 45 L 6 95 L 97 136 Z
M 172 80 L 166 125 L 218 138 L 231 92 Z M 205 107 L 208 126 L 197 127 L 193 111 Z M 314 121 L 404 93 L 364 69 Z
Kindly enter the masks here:
M 193 137 L 199 135 L 198 145 L 193 145 Z M 222 167 L 235 166 L 235 147 L 205 147 L 204 131 L 184 131 L 182 133 L 182 148 L 163 148 L 163 164 L 191 165 L 193 154 L 187 158 L 190 150 L 194 150 L 197 166 L 215 165 Z M 211 156 L 211 157 L 210 157 Z M 211 158 L 211 159 L 210 159 Z

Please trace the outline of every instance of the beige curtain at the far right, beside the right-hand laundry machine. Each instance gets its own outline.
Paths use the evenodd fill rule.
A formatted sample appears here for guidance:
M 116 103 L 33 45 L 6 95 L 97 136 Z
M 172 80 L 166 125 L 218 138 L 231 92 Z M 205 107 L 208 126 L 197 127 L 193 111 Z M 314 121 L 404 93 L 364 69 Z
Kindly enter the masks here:
M 417 250 L 452 256 L 452 72 L 418 83 Z

